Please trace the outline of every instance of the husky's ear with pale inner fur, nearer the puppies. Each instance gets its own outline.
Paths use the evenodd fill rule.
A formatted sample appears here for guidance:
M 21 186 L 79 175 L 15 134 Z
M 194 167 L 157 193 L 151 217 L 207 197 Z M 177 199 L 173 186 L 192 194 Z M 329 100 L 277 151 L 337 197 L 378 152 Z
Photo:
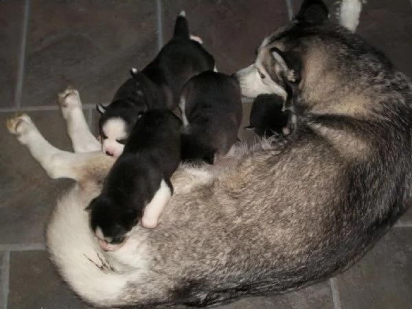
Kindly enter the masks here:
M 301 61 L 295 54 L 284 53 L 276 47 L 272 47 L 271 55 L 279 66 L 282 77 L 287 82 L 297 83 L 300 81 Z

